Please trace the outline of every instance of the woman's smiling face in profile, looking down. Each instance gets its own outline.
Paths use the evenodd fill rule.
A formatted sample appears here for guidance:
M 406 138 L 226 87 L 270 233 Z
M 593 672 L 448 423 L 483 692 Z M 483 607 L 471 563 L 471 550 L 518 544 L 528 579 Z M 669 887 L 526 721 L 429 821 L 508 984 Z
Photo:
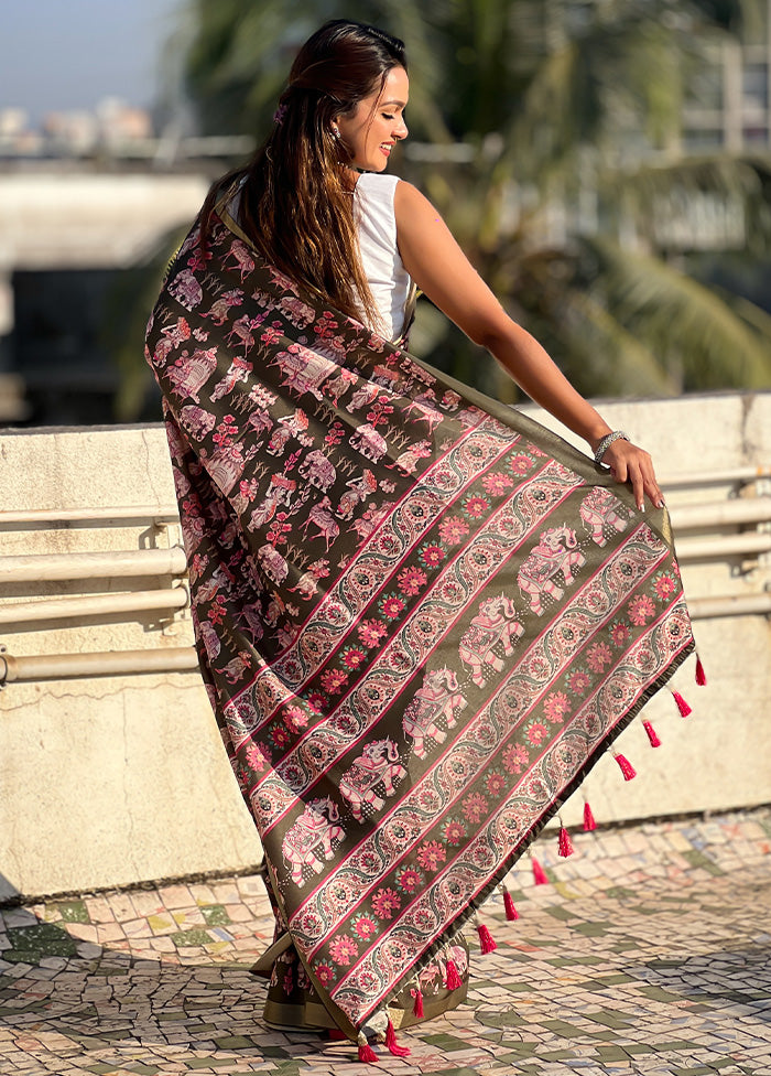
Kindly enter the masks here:
M 357 105 L 352 116 L 337 116 L 334 123 L 351 154 L 351 164 L 367 172 L 382 172 L 391 149 L 406 138 L 404 109 L 410 96 L 410 79 L 403 67 L 392 67 L 382 92 L 377 90 Z

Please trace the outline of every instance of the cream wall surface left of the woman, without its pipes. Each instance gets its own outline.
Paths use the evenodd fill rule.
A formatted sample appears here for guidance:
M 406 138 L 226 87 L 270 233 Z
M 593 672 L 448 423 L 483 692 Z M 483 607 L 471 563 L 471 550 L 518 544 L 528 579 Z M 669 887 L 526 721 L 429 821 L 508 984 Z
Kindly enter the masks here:
M 0 460 L 0 512 L 175 503 L 160 426 L 4 433 Z M 4 528 L 0 553 L 178 540 L 177 527 L 164 535 L 146 524 Z M 112 589 L 124 584 L 145 590 L 170 580 L 115 580 Z M 63 582 L 0 591 L 2 599 L 19 599 L 94 588 L 102 589 Z M 11 634 L 0 625 L 0 642 L 15 655 L 192 643 L 186 616 L 172 624 L 156 613 L 12 627 Z M 0 692 L 0 789 L 7 892 L 47 894 L 235 870 L 261 857 L 197 674 L 9 684 Z

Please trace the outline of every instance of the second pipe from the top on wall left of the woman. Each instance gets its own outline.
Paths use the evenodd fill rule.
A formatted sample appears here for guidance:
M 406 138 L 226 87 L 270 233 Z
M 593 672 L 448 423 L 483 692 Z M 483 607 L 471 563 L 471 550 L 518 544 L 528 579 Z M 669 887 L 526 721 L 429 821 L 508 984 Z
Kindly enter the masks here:
M 0 583 L 52 582 L 129 575 L 184 575 L 182 546 L 101 553 L 28 553 L 0 557 Z

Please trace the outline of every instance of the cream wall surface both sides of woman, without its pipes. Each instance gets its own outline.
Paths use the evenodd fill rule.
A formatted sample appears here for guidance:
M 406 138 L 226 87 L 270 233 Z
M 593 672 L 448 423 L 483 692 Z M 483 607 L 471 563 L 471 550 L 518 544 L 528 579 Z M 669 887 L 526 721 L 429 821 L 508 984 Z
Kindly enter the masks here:
M 611 426 L 649 448 L 661 474 L 771 465 L 771 394 L 600 409 Z M 174 502 L 160 427 L 0 433 L 0 512 Z M 771 492 L 768 484 L 765 491 L 757 488 Z M 729 483 L 672 491 L 667 502 L 676 512 L 685 501 L 725 501 L 735 492 Z M 3 556 L 137 549 L 176 540 L 175 527 L 170 532 L 146 525 L 22 529 L 3 527 L 0 516 Z M 689 563 L 683 575 L 689 598 L 759 593 L 771 581 L 768 558 Z M 164 583 L 169 580 L 135 581 L 141 589 Z M 126 589 L 121 581 L 113 587 Z M 0 601 L 87 589 L 72 582 L 18 584 L 2 588 Z M 698 621 L 696 636 L 708 687 L 693 685 L 692 659 L 676 686 L 693 715 L 681 719 L 669 692 L 661 692 L 645 715 L 663 745 L 652 751 L 639 721 L 623 734 L 620 750 L 633 761 L 636 781 L 625 783 L 612 760 L 598 764 L 586 783 L 598 820 L 771 800 L 769 618 Z M 42 623 L 26 631 L 0 626 L 0 643 L 17 655 L 189 642 L 189 621 L 178 614 L 173 621 L 137 614 Z M 563 811 L 568 824 L 579 817 L 576 798 Z M 196 675 L 9 684 L 0 692 L 0 896 L 237 870 L 259 856 Z

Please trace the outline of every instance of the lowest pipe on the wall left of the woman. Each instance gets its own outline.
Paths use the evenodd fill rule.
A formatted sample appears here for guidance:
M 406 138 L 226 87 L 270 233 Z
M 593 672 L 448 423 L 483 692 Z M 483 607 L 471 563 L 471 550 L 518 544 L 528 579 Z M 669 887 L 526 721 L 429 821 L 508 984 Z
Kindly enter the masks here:
M 198 657 L 192 646 L 29 657 L 0 654 L 0 686 L 31 680 L 127 676 L 135 672 L 188 672 L 197 668 Z

